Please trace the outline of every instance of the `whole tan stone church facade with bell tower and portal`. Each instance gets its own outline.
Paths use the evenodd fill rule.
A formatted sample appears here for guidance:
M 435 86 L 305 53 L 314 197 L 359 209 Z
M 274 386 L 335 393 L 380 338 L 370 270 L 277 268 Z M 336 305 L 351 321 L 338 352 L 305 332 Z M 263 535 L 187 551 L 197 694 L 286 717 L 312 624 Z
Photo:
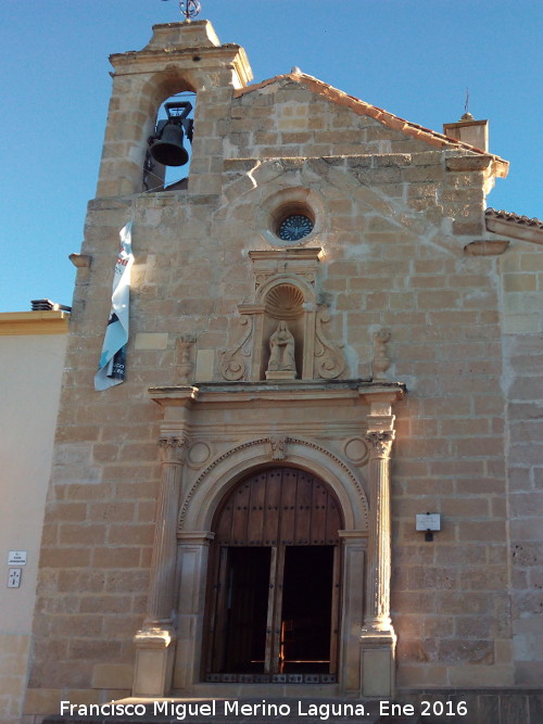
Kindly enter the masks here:
M 543 225 L 487 209 L 507 163 L 477 122 L 442 135 L 298 69 L 250 85 L 206 21 L 111 62 L 24 721 L 457 690 L 530 722 Z M 168 185 L 149 151 L 178 93 Z M 96 391 L 127 223 L 126 379 Z

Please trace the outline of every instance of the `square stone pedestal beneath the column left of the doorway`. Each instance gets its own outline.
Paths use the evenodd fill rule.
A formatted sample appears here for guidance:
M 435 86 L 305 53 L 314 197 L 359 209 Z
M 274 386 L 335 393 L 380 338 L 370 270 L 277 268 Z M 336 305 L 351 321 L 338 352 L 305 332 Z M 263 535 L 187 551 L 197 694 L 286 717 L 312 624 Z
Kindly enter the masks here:
M 134 697 L 164 697 L 172 688 L 175 655 L 175 632 L 171 626 L 148 627 L 138 631 Z

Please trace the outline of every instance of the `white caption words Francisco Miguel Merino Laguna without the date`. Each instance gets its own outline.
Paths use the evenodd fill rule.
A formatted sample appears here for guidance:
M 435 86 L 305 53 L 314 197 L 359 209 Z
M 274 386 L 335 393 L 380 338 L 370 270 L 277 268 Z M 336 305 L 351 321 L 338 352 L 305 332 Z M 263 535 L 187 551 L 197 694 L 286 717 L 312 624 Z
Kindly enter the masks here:
M 330 716 L 364 716 L 364 704 L 356 703 L 312 703 L 308 700 L 291 703 L 241 702 L 236 699 L 202 702 L 180 702 L 175 699 L 153 701 L 147 706 L 130 701 L 111 701 L 101 704 L 76 704 L 61 701 L 61 714 L 68 716 L 157 716 L 163 714 L 181 722 L 191 716 L 318 716 L 326 721 Z

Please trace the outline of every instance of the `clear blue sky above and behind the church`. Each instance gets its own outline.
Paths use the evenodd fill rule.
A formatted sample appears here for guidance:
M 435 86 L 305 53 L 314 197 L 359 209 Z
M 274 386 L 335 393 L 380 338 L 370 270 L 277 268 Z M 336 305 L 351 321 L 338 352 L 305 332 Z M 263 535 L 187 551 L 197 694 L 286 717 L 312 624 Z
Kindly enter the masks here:
M 510 162 L 488 203 L 543 216 L 536 0 L 201 0 L 222 42 L 248 52 L 254 80 L 298 65 L 435 130 L 464 112 L 490 119 Z M 141 49 L 177 0 L 3 0 L 0 8 L 0 312 L 33 299 L 71 304 L 111 90 L 111 53 Z

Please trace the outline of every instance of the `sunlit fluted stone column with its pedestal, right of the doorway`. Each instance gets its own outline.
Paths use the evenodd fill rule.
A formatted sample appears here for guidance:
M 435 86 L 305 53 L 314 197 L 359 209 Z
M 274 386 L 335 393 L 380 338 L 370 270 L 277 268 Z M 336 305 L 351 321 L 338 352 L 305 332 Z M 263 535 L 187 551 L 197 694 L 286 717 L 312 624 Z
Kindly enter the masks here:
M 390 427 L 393 422 L 390 420 Z M 369 418 L 371 422 L 371 419 Z M 366 568 L 366 610 L 361 635 L 362 695 L 393 695 L 396 636 L 390 620 L 391 524 L 390 450 L 393 430 L 369 431 L 369 541 Z

